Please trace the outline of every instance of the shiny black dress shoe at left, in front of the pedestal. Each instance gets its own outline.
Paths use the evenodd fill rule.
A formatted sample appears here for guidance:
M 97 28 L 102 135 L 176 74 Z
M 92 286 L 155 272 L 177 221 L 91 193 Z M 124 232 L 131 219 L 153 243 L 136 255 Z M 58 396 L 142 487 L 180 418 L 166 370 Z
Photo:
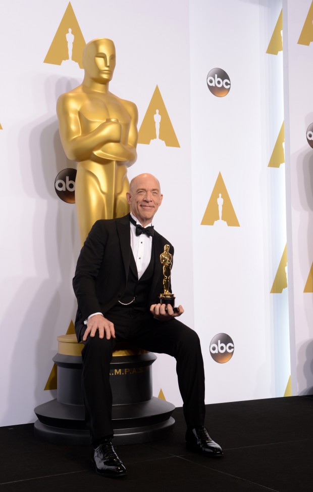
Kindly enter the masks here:
M 114 451 L 111 440 L 100 444 L 92 458 L 95 471 L 104 477 L 122 477 L 126 475 L 126 468 Z

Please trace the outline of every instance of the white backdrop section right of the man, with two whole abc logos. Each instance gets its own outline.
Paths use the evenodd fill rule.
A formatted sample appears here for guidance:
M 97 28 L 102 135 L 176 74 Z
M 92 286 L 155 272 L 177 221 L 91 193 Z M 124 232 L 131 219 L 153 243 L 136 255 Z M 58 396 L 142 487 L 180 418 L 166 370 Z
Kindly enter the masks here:
M 194 306 L 208 401 L 283 395 L 290 375 L 287 294 L 270 295 L 286 244 L 284 165 L 268 168 L 284 117 L 282 53 L 266 53 L 281 8 L 190 3 Z M 229 76 L 225 97 L 206 86 L 215 67 Z M 201 225 L 219 172 L 239 227 Z M 227 364 L 208 349 L 218 333 L 234 342 Z

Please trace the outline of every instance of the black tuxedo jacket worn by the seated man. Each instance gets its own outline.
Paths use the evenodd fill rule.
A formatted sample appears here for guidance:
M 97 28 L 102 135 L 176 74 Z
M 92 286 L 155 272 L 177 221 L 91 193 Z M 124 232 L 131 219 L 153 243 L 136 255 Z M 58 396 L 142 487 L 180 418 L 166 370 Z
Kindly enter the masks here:
M 149 305 L 158 303 L 163 292 L 163 266 L 160 254 L 171 243 L 154 231 L 154 274 L 149 292 Z M 152 250 L 153 251 L 153 250 Z M 94 312 L 106 312 L 122 298 L 129 273 L 131 255 L 129 214 L 121 218 L 97 220 L 80 252 L 73 288 L 77 297 L 75 331 L 78 340 L 84 320 Z

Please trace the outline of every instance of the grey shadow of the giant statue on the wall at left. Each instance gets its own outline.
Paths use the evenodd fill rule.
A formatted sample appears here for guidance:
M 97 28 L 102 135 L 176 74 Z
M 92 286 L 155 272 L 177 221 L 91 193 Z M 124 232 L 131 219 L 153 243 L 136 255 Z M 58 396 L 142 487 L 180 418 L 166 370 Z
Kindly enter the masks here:
M 11 384 L 6 401 L 7 423 L 3 425 L 34 421 L 33 408 L 55 397 L 55 391 L 44 391 L 44 386 L 57 352 L 56 337 L 66 333 L 75 316 L 72 278 L 80 249 L 76 211 L 75 205 L 63 202 L 55 192 L 57 174 L 66 167 L 75 167 L 75 163 L 63 151 L 55 107 L 59 95 L 79 83 L 56 76 L 46 79 L 45 100 L 51 108 L 29 122 L 19 136 L 20 161 L 25 162 L 21 166 L 23 188 L 35 202 L 27 240 L 33 249 L 31 261 L 36 275 L 23 280 L 4 313 L 4 319 L 11 319 L 22 301 L 20 330 L 10 356 L 11 366 L 7 368 Z M 27 165 L 25 156 L 29 154 Z M 31 226 L 29 218 L 28 222 Z M 28 252 L 21 250 L 23 261 L 29 261 L 29 248 Z M 17 422 L 21 413 L 25 419 Z

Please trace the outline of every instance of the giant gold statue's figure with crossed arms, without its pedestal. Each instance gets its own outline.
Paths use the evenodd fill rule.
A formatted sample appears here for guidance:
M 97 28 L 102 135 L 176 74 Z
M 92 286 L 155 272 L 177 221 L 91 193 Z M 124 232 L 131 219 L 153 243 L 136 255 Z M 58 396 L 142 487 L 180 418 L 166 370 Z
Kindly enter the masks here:
M 96 220 L 128 213 L 127 167 L 136 161 L 138 139 L 136 105 L 109 92 L 113 41 L 86 44 L 83 67 L 83 83 L 57 103 L 62 145 L 67 157 L 78 162 L 75 202 L 82 244 Z

